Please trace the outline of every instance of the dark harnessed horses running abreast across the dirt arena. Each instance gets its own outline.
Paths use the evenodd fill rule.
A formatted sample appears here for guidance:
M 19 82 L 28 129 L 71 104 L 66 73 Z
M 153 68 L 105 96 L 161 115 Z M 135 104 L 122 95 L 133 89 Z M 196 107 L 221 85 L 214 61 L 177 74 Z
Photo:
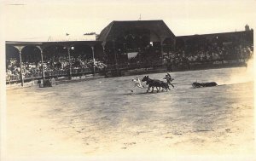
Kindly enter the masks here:
M 160 88 L 166 89 L 166 91 L 170 90 L 168 83 L 164 83 L 163 81 L 160 81 L 158 79 L 150 79 L 148 78 L 148 76 L 145 76 L 142 82 L 145 82 L 145 81 L 146 81 L 146 84 L 148 85 L 147 92 L 149 91 L 150 88 L 152 88 L 151 92 L 153 92 L 154 87 L 156 88 L 157 92 L 159 92 Z

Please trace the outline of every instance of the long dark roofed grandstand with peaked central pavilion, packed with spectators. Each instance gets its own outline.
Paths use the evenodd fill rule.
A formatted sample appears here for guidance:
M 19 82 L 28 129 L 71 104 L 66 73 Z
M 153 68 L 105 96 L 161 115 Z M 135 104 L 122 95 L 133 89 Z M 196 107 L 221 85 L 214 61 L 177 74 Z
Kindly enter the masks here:
M 132 69 L 168 71 L 241 66 L 253 56 L 253 29 L 176 37 L 163 20 L 113 21 L 97 35 L 6 42 L 6 83 Z

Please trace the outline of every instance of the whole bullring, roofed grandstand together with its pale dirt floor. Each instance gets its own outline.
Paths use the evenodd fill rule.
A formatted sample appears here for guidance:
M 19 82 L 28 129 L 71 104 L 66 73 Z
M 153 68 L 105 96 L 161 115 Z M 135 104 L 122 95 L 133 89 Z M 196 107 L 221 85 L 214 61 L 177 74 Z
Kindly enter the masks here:
M 252 34 L 175 37 L 163 20 L 140 20 L 113 21 L 95 41 L 6 42 L 6 152 L 253 154 Z M 131 82 L 166 72 L 167 92 Z

